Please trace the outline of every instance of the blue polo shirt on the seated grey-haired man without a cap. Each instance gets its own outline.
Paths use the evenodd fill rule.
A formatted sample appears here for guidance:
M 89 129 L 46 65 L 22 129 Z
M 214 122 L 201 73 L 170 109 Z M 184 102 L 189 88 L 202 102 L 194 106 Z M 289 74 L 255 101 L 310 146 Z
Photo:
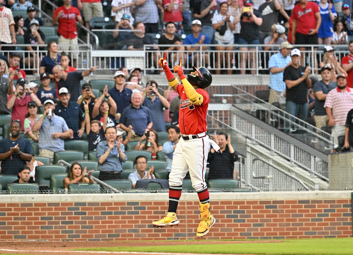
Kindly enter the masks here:
M 150 110 L 145 106 L 140 106 L 136 109 L 135 107 L 128 106 L 122 111 L 120 117 L 120 123 L 125 126 L 132 126 L 136 135 L 142 136 L 143 131 L 147 128 L 148 123 L 152 122 L 152 116 Z

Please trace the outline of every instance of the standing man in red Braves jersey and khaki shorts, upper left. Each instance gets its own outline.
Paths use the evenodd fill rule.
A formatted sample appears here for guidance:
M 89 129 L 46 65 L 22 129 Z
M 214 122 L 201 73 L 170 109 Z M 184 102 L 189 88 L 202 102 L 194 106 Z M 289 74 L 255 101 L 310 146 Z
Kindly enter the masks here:
M 0 0 L 1 1 L 1 0 Z M 73 55 L 72 66 L 77 67 L 78 40 L 76 20 L 82 25 L 83 20 L 78 8 L 71 6 L 71 0 L 64 0 L 64 5 L 56 8 L 52 25 L 58 22 L 58 33 L 60 34 L 58 44 L 63 51 L 71 50 Z

